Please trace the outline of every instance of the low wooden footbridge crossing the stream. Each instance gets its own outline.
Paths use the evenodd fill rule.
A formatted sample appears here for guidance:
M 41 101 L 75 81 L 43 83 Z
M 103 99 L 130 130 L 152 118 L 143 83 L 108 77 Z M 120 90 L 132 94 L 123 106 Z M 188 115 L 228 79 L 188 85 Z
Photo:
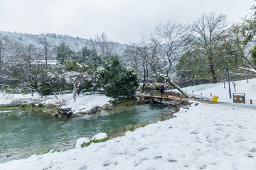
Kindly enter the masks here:
M 149 94 L 140 94 L 137 95 L 139 98 L 149 99 L 150 103 L 152 103 L 152 99 L 156 98 L 159 99 L 160 102 L 164 101 L 166 105 L 166 101 L 174 101 L 174 102 L 181 102 L 181 101 L 197 101 L 194 98 L 182 98 L 181 96 L 177 96 L 175 92 L 166 92 L 163 94 L 160 93 L 149 93 Z

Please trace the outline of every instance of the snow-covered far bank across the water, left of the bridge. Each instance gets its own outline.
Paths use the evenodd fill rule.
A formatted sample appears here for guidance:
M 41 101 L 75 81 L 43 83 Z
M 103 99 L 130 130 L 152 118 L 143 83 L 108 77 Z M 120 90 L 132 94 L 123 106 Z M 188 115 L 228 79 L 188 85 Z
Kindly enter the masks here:
M 72 108 L 74 113 L 78 113 L 80 111 L 89 111 L 93 106 L 103 106 L 111 98 L 101 95 L 101 94 L 93 94 L 93 95 L 85 95 L 80 94 L 80 96 L 76 97 L 76 101 L 73 99 L 73 94 L 63 94 L 58 95 L 58 99 L 55 96 L 45 96 L 41 98 L 38 94 L 14 94 L 14 95 L 6 95 L 4 93 L 0 93 L 0 105 L 8 105 L 10 103 L 16 103 L 17 101 L 22 101 L 22 103 L 63 103 L 65 107 Z

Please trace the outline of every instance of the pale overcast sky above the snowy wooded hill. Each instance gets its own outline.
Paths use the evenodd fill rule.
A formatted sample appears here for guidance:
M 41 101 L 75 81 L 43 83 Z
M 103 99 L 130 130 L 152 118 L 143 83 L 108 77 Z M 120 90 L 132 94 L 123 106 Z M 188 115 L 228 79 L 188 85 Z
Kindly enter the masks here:
M 255 0 L 0 0 L 0 30 L 56 33 L 115 42 L 137 42 L 166 21 L 188 23 L 203 13 L 239 22 Z

